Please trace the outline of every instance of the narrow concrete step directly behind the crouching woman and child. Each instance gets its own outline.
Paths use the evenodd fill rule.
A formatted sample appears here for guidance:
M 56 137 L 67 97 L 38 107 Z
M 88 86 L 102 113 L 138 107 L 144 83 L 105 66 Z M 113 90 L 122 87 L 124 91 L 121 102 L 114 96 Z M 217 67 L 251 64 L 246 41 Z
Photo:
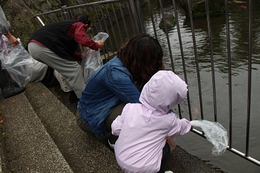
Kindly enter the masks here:
M 75 115 L 48 88 L 28 83 L 25 95 L 73 172 L 120 172 L 114 153 L 80 130 Z

